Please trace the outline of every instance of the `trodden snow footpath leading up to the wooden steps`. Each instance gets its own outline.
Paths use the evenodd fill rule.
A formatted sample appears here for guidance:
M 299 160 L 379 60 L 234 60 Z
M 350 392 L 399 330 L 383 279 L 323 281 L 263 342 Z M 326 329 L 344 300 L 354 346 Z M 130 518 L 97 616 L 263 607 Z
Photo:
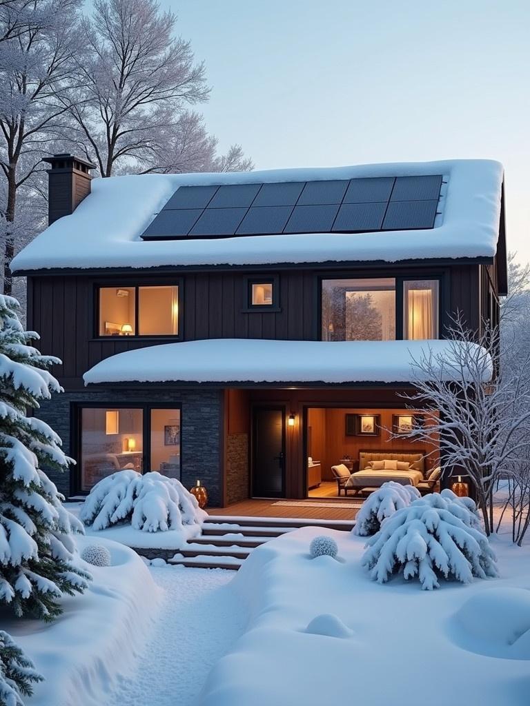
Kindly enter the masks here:
M 105 706 L 189 706 L 208 673 L 242 635 L 247 612 L 228 583 L 232 571 L 151 567 L 163 591 L 137 669 L 121 678 Z

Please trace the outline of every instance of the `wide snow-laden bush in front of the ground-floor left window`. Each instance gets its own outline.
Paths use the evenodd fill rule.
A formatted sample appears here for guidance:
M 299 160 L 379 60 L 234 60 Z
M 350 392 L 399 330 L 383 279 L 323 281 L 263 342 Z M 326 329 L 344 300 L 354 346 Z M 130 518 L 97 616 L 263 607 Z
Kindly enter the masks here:
M 136 530 L 165 532 L 199 525 L 206 513 L 175 478 L 158 472 L 117 471 L 90 491 L 79 515 L 93 530 L 131 522 Z

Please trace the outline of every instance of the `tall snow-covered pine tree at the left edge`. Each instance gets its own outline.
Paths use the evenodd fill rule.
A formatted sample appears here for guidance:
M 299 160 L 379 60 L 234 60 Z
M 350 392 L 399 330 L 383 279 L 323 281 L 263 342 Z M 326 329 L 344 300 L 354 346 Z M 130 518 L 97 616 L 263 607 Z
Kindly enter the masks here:
M 61 392 L 47 370 L 57 358 L 30 345 L 18 301 L 0 295 L 0 604 L 16 616 L 52 620 L 64 594 L 83 592 L 90 575 L 75 566 L 73 532 L 83 525 L 61 504 L 42 467 L 64 471 L 71 460 L 43 421 L 27 416 Z

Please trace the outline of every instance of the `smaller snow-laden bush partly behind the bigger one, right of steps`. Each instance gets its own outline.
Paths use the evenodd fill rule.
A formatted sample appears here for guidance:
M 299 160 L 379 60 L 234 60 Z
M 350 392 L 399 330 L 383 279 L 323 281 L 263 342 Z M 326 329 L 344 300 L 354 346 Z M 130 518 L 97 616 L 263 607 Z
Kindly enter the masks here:
M 411 485 L 401 485 L 395 481 L 387 481 L 370 494 L 355 517 L 353 534 L 358 537 L 368 537 L 379 532 L 381 523 L 391 517 L 397 510 L 408 508 L 414 500 L 420 498 L 420 491 Z

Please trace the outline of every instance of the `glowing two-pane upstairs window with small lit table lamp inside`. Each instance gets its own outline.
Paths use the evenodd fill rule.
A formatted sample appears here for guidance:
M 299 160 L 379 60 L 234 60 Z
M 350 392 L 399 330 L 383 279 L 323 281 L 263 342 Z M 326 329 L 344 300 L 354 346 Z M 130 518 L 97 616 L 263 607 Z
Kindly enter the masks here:
M 100 336 L 177 336 L 179 287 L 100 287 Z

